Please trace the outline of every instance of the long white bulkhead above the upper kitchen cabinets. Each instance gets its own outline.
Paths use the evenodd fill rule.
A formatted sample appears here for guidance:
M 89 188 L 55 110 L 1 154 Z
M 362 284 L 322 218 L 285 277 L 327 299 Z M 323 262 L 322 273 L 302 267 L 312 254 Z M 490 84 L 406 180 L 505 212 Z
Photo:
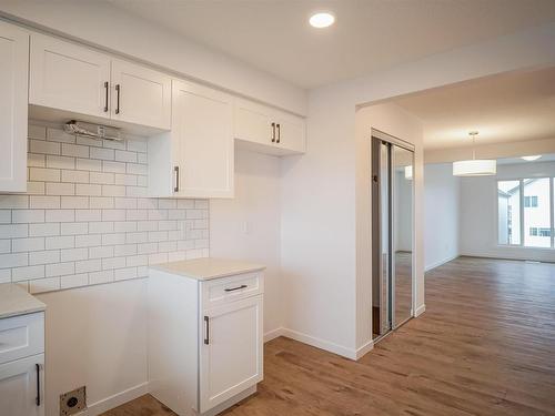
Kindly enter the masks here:
M 306 113 L 304 90 L 105 1 L 1 0 L 0 16 L 69 35 L 301 115 Z

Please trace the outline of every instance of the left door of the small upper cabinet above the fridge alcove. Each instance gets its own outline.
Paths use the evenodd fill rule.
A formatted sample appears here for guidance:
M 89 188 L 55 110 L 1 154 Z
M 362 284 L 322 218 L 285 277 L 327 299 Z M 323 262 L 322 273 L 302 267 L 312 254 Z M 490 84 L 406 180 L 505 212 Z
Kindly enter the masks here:
M 275 125 L 272 126 L 269 109 L 246 100 L 236 99 L 234 138 L 266 145 L 275 143 Z

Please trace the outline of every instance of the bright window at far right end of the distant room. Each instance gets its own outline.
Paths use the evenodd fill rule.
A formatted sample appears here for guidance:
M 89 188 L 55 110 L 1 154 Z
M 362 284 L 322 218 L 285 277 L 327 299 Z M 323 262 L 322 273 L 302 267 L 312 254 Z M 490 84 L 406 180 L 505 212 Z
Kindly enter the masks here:
M 554 247 L 554 177 L 497 182 L 497 241 L 503 245 Z

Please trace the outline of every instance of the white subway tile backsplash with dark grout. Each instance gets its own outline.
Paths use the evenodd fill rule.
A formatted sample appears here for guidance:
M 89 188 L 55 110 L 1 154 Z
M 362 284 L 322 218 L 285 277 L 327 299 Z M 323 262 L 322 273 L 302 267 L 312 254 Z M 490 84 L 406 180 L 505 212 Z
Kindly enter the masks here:
M 147 141 L 29 126 L 27 194 L 0 194 L 0 283 L 41 293 L 209 255 L 209 201 L 147 197 Z

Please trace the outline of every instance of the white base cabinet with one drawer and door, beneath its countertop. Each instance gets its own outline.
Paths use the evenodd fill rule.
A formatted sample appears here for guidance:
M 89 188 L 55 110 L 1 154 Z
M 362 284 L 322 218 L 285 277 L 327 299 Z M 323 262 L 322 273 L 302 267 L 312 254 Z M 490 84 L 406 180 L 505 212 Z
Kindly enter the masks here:
M 263 378 L 262 273 L 213 280 L 152 268 L 149 390 L 178 415 L 215 415 Z

